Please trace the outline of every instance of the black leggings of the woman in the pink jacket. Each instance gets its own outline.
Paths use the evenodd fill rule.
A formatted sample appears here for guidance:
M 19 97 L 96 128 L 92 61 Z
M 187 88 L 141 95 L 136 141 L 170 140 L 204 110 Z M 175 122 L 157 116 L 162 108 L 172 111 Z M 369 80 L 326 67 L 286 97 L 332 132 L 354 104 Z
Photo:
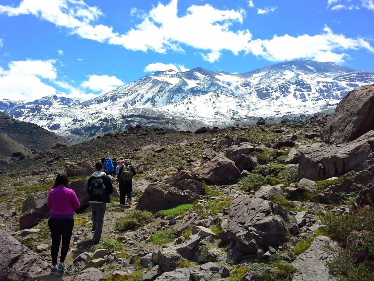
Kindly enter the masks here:
M 52 257 L 52 265 L 57 264 L 58 249 L 60 247 L 61 237 L 61 256 L 60 263 L 65 262 L 65 257 L 69 251 L 71 235 L 73 233 L 74 220 L 69 218 L 50 218 L 48 220 L 50 236 L 52 238 L 52 246 L 50 247 L 50 255 Z

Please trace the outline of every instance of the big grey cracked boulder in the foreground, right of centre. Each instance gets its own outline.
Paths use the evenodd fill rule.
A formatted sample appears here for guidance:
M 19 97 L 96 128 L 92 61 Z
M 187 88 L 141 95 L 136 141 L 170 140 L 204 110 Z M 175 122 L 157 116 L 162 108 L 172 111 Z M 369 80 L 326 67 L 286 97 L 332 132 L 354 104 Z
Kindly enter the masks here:
M 285 242 L 288 214 L 273 202 L 252 196 L 239 196 L 230 204 L 227 235 L 234 247 L 246 254 L 269 250 Z

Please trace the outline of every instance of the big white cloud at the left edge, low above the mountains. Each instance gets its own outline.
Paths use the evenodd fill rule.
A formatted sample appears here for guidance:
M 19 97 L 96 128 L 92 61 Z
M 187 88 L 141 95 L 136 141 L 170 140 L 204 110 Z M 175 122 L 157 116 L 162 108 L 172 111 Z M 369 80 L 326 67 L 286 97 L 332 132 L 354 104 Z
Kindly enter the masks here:
M 56 78 L 54 60 L 11 61 L 0 69 L 0 99 L 31 100 L 55 94 L 56 89 L 43 80 Z

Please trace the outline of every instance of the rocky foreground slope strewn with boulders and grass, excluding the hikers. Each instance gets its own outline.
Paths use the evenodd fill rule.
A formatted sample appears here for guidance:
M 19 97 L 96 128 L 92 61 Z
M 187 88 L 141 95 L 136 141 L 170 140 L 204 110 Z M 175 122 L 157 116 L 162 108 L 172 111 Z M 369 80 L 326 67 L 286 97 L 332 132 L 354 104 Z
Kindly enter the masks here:
M 136 126 L 12 158 L 0 175 L 0 280 L 374 280 L 374 131 L 360 121 L 372 119 L 373 90 L 351 91 L 328 117 Z M 112 194 L 93 247 L 86 180 L 107 156 L 134 163 L 134 204 Z M 82 208 L 68 270 L 51 276 L 46 197 L 65 171 Z

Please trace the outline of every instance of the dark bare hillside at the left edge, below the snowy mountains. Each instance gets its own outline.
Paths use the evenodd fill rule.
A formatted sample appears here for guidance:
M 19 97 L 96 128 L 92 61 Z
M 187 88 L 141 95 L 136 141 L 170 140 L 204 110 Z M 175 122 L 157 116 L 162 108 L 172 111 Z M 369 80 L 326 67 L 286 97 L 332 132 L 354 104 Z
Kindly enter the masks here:
M 12 156 L 13 152 L 25 155 L 33 151 L 47 151 L 56 143 L 70 145 L 65 139 L 36 124 L 18 121 L 0 112 L 0 157 Z

